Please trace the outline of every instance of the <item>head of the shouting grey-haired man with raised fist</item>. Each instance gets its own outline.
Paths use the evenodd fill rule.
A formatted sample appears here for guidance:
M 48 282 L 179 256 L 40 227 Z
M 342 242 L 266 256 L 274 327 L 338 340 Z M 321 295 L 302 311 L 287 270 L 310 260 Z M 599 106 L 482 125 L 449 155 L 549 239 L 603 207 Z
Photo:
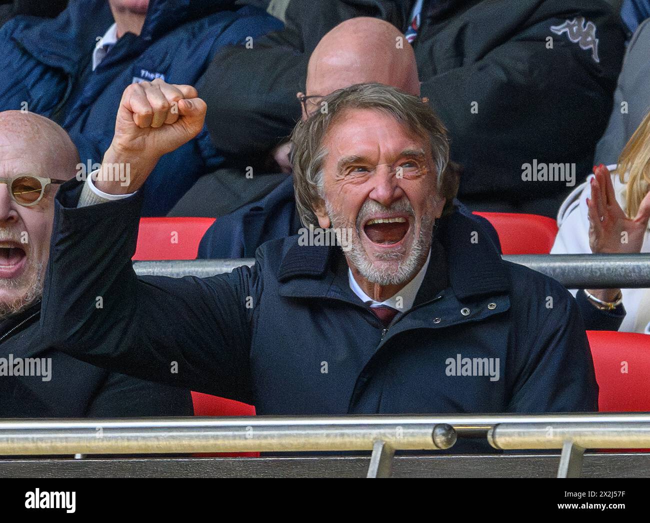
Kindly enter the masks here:
M 421 270 L 430 252 L 435 220 L 441 216 L 447 199 L 451 201 L 454 196 L 448 190 L 445 194 L 442 190 L 443 175 L 437 174 L 445 173 L 449 158 L 445 127 L 425 103 L 416 100 L 395 88 L 380 84 L 357 84 L 334 97 L 324 114 L 296 125 L 292 134 L 295 145 L 296 207 L 302 222 L 306 227 L 320 225 L 324 229 L 350 231 L 349 252 L 346 253 L 350 272 L 354 274 L 355 281 L 365 279 L 385 287 L 380 292 L 382 296 L 391 296 L 387 293 L 398 290 L 393 286 L 408 283 Z M 428 144 L 428 147 L 422 144 L 405 145 L 399 151 L 398 164 L 385 164 L 390 167 L 389 174 L 395 177 L 398 187 L 393 189 L 387 186 L 383 192 L 379 192 L 380 189 L 373 186 L 373 190 L 378 191 L 378 198 L 365 199 L 360 209 L 354 208 L 350 213 L 346 209 L 346 199 L 328 198 L 325 192 L 324 170 L 326 162 L 332 158 L 328 155 L 326 133 L 333 121 L 341 118 L 344 112 L 347 118 L 361 118 L 359 129 L 352 125 L 348 131 L 350 138 L 359 136 L 356 133 L 370 129 L 378 116 L 369 114 L 371 121 L 365 122 L 361 114 L 367 109 L 402 122 L 411 133 L 419 136 L 420 141 L 424 138 L 424 144 Z M 350 114 L 352 111 L 356 112 L 354 116 Z M 395 131 L 400 131 L 399 126 Z M 379 144 L 390 143 L 389 138 L 393 137 L 382 137 L 382 140 L 376 141 Z M 350 146 L 354 150 L 350 151 L 350 155 L 341 157 L 335 165 L 337 182 L 331 186 L 331 190 L 348 186 L 348 194 L 358 192 L 365 196 L 367 185 L 361 183 L 357 190 L 356 185 L 349 183 L 350 177 L 346 179 L 346 172 L 357 172 L 359 175 L 355 175 L 356 179 L 363 180 L 361 173 L 373 171 L 369 168 L 367 157 L 357 154 L 358 145 L 350 142 Z M 424 173 L 428 173 L 428 176 L 423 176 Z M 399 180 L 405 177 L 407 182 L 400 184 Z M 354 201 L 361 200 L 354 198 Z M 419 220 L 415 220 L 413 203 L 421 203 Z M 397 248 L 396 244 L 400 244 L 400 247 Z

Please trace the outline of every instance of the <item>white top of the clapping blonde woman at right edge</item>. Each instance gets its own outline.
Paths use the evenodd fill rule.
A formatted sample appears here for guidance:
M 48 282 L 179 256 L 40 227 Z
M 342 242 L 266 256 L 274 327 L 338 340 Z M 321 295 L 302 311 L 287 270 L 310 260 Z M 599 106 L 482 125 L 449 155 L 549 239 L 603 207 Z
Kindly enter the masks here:
M 607 168 L 612 172 L 616 165 L 608 165 Z M 593 174 L 584 183 L 578 185 L 560 206 L 558 212 L 560 230 L 555 238 L 551 254 L 591 254 L 587 207 L 587 198 L 591 198 L 591 178 L 593 178 Z M 621 209 L 625 210 L 627 185 L 621 183 L 617 175 L 612 175 L 612 183 L 616 201 Z M 650 252 L 650 231 L 645 231 L 641 252 Z M 576 290 L 571 291 L 573 296 L 576 292 Z M 650 334 L 650 289 L 623 288 L 621 292 L 627 314 L 619 331 Z

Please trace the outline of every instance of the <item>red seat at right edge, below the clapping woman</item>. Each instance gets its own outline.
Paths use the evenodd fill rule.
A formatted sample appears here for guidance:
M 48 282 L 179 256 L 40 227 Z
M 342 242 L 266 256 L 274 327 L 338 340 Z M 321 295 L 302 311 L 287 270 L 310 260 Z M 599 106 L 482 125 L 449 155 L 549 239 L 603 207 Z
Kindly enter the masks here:
M 601 412 L 650 412 L 650 336 L 587 331 Z

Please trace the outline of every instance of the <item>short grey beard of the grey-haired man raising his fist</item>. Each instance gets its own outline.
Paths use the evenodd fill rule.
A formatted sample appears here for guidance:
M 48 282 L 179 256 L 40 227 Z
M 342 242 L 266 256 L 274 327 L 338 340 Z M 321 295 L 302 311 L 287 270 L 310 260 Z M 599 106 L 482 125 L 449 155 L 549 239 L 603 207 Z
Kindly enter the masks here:
M 332 209 L 328 201 L 325 202 L 325 207 L 334 228 L 349 227 L 349 225 L 345 223 L 345 220 Z M 359 212 L 359 214 L 361 214 L 361 212 Z M 408 253 L 408 257 L 398 264 L 396 270 L 390 267 L 377 267 L 372 263 L 361 244 L 361 238 L 359 238 L 359 225 L 356 224 L 357 226 L 354 227 L 356 235 L 354 238 L 350 239 L 350 249 L 345 253 L 348 265 L 354 266 L 361 276 L 367 279 L 370 283 L 375 283 L 376 285 L 385 286 L 406 284 L 415 277 L 426 260 L 426 257 L 429 255 L 434 223 L 435 220 L 432 220 L 430 217 L 422 216 L 420 235 L 415 238 L 411 251 Z M 386 253 L 383 257 L 380 257 L 380 259 L 383 261 L 399 261 L 402 259 L 402 256 L 401 253 L 393 252 Z

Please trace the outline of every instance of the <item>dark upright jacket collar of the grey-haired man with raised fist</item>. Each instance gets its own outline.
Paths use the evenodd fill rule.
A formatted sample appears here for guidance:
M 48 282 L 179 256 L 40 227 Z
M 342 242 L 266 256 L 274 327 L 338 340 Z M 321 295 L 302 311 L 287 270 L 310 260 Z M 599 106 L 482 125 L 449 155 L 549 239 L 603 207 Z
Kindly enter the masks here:
M 448 284 L 458 300 L 507 292 L 510 279 L 506 266 L 480 222 L 455 210 L 439 220 L 435 237 L 445 252 Z M 348 294 L 344 288 L 335 290 L 334 287 L 341 285 L 332 285 L 337 274 L 337 281 L 343 281 L 339 274 L 343 259 L 340 248 L 301 246 L 298 244 L 298 236 L 289 238 L 289 241 L 291 246 L 287 249 L 278 272 L 281 284 L 279 292 L 282 296 L 334 297 L 333 293 L 341 291 L 346 296 L 354 295 L 352 290 Z M 439 266 L 432 259 L 422 283 L 422 292 L 426 292 L 427 288 L 438 281 Z M 438 285 L 436 283 L 434 287 Z M 343 287 L 349 288 L 349 285 Z M 425 296 L 418 294 L 416 303 L 421 303 Z M 361 300 L 358 301 L 361 303 Z

